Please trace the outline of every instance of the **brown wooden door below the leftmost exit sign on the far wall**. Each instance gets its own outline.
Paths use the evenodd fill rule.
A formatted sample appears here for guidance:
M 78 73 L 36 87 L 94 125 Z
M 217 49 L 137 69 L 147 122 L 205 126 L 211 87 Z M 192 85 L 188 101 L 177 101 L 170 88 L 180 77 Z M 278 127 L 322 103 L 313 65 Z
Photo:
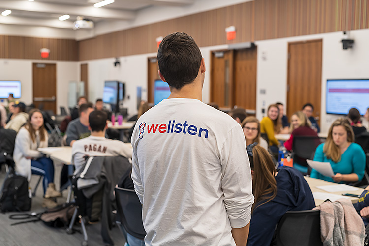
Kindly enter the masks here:
M 56 96 L 56 64 L 33 63 L 33 103 L 36 108 L 52 110 L 55 114 Z

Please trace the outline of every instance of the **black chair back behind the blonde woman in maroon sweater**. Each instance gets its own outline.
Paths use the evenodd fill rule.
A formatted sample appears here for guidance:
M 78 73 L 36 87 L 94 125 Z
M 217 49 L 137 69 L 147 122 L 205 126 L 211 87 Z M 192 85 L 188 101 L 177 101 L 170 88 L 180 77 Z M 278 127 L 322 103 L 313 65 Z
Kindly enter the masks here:
M 307 167 L 306 159 L 311 158 L 316 147 L 323 141 L 323 139 L 314 136 L 295 136 L 292 144 L 293 161 Z

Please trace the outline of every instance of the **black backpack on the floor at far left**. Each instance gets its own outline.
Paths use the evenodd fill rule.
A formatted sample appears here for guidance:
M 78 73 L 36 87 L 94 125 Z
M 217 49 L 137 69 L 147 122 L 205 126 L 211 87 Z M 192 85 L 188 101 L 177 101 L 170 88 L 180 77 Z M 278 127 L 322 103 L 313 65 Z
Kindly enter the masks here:
M 4 189 L 0 198 L 0 209 L 8 211 L 29 211 L 31 209 L 32 194 L 28 189 L 26 177 L 16 175 L 14 169 L 4 182 Z

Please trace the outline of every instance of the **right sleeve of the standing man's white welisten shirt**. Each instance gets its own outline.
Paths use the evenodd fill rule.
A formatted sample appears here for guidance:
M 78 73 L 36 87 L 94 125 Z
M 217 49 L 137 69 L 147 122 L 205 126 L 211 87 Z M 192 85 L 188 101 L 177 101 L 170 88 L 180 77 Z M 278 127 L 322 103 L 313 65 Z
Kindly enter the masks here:
M 251 169 L 246 142 L 240 125 L 233 127 L 222 145 L 221 185 L 224 204 L 233 228 L 242 228 L 250 222 L 252 195 Z

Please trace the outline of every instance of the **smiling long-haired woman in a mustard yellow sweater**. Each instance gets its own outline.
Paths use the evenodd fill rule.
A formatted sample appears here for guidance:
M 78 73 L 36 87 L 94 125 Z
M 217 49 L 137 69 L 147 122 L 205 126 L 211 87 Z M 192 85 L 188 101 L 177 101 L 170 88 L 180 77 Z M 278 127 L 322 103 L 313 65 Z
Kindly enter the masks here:
M 260 122 L 260 131 L 267 134 L 272 153 L 278 153 L 279 142 L 274 135 L 279 133 L 280 128 L 279 108 L 275 104 L 269 105 L 267 116 Z

